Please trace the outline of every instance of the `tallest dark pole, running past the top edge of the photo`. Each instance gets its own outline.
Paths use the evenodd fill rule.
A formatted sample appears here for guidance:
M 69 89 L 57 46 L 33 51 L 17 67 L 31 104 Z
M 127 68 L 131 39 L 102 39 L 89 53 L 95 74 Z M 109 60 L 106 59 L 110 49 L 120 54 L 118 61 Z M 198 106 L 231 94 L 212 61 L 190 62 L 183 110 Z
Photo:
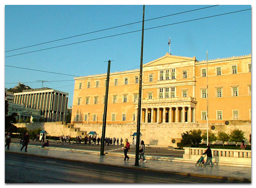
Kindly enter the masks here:
M 144 40 L 144 13 L 145 13 L 145 5 L 143 5 L 143 18 L 142 18 L 141 51 L 140 51 L 140 83 L 139 83 L 138 116 L 137 116 L 137 136 L 136 136 L 136 151 L 135 151 L 136 153 L 135 153 L 134 166 L 139 166 L 140 114 L 141 114 L 143 40 Z

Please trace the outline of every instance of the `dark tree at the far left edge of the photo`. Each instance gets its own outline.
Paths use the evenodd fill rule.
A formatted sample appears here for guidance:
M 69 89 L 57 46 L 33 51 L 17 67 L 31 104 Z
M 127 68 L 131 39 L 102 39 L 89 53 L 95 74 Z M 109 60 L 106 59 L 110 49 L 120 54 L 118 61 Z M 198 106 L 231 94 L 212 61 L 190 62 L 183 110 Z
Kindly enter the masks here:
M 18 114 L 12 113 L 11 115 L 8 115 L 8 106 L 8 101 L 5 100 L 5 131 L 10 133 L 17 133 L 17 127 L 13 123 L 17 123 L 15 116 L 17 116 Z

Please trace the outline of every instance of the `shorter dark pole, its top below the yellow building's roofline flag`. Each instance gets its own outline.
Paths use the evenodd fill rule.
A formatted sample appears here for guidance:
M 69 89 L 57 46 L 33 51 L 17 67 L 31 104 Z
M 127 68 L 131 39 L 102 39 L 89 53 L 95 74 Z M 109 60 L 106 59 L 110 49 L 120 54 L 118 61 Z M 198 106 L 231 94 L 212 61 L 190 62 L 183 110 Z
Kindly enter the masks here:
M 103 113 L 103 123 L 102 123 L 102 135 L 101 135 L 101 144 L 100 144 L 100 155 L 104 155 L 104 140 L 106 132 L 106 120 L 107 120 L 107 108 L 108 108 L 108 96 L 109 96 L 109 75 L 110 75 L 110 60 L 108 61 L 108 73 L 106 80 L 106 94 L 105 94 L 105 104 L 104 104 L 104 113 Z

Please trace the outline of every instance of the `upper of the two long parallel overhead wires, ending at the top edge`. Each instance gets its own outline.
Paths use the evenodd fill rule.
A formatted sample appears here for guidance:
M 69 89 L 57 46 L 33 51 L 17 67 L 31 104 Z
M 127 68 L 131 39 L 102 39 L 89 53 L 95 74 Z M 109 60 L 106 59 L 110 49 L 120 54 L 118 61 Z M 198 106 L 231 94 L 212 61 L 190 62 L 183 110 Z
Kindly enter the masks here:
M 159 18 L 165 18 L 165 17 L 174 16 L 174 15 L 178 15 L 178 14 L 184 14 L 184 13 L 187 13 L 187 12 L 192 12 L 192 11 L 201 10 L 201 9 L 205 9 L 205 8 L 211 8 L 211 7 L 214 7 L 214 6 L 219 6 L 219 5 L 207 6 L 207 7 L 204 7 L 204 8 L 198 8 L 198 9 L 189 10 L 189 11 L 185 11 L 185 12 L 180 12 L 180 13 L 176 13 L 176 14 L 171 14 L 171 15 L 167 15 L 167 16 L 162 16 L 162 17 L 158 17 L 158 18 L 152 18 L 152 19 L 148 19 L 148 20 L 145 20 L 145 21 L 150 21 L 150 20 L 159 19 Z M 83 36 L 83 35 L 87 35 L 87 34 L 92 34 L 92 33 L 100 32 L 100 31 L 105 31 L 105 30 L 109 30 L 109 29 L 116 29 L 116 28 L 132 25 L 132 24 L 136 24 L 136 23 L 141 23 L 141 22 L 142 21 L 138 21 L 138 22 L 124 24 L 124 25 L 116 26 L 116 27 L 112 27 L 112 28 L 101 29 L 101 30 L 97 30 L 97 31 L 83 33 L 83 34 L 80 34 L 80 35 L 75 35 L 75 36 L 72 36 L 72 37 L 66 37 L 66 38 L 63 38 L 63 39 L 57 39 L 57 40 L 54 40 L 54 41 L 48 41 L 48 42 L 43 42 L 43 43 L 39 43 L 39 44 L 34 44 L 34 45 L 31 45 L 31 46 L 17 48 L 17 49 L 14 49 L 14 50 L 8 50 L 8 51 L 5 51 L 5 52 L 11 52 L 11 51 L 20 50 L 20 49 L 24 49 L 24 48 L 29 48 L 29 47 L 33 47 L 33 46 L 38 46 L 38 45 L 42 45 L 42 44 L 47 44 L 47 43 L 51 43 L 51 42 L 61 41 L 61 40 L 70 39 L 70 38 L 74 38 L 74 37 L 79 37 L 79 36 Z

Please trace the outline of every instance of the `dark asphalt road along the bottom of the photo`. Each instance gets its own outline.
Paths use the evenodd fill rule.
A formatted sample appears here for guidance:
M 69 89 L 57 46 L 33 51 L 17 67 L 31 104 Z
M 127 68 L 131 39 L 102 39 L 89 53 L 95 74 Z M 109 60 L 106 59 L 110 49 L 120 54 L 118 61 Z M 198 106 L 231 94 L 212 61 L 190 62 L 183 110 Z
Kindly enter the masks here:
M 5 153 L 5 183 L 244 183 Z

